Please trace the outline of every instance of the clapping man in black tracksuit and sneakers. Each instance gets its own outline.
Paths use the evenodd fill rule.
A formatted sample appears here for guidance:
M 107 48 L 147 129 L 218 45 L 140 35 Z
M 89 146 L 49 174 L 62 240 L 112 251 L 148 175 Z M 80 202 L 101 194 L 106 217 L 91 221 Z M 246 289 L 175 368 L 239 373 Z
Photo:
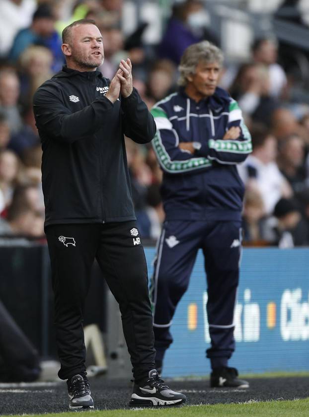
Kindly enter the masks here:
M 121 310 L 135 378 L 130 404 L 179 404 L 185 396 L 171 394 L 154 369 L 147 265 L 124 143 L 124 134 L 137 143 L 150 142 L 154 119 L 132 87 L 129 59 L 121 61 L 111 82 L 96 70 L 104 53 L 94 21 L 69 25 L 63 42 L 67 66 L 46 81 L 33 100 L 43 149 L 59 377 L 68 379 L 71 409 L 93 408 L 82 317 L 96 258 Z

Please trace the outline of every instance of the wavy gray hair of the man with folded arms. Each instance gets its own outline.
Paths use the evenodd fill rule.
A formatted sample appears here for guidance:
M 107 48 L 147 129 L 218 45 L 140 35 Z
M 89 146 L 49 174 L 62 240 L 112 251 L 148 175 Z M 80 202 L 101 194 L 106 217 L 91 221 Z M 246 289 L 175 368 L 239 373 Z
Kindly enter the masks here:
M 216 45 L 203 40 L 188 46 L 180 60 L 179 70 L 179 86 L 186 86 L 188 75 L 194 74 L 196 66 L 200 61 L 207 63 L 218 63 L 221 67 L 223 63 L 223 52 Z

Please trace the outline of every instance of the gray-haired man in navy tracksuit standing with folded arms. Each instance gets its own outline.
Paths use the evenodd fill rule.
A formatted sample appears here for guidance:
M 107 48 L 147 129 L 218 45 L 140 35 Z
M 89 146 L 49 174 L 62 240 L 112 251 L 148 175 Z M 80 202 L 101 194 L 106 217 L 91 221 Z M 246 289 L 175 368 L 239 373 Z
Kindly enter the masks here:
M 172 317 L 201 248 L 208 284 L 211 386 L 244 388 L 248 383 L 237 378 L 228 360 L 235 345 L 244 193 L 236 164 L 251 152 L 251 137 L 237 103 L 217 87 L 222 61 L 222 51 L 208 41 L 189 46 L 179 66 L 180 91 L 152 110 L 166 217 L 151 297 L 158 369 L 172 343 Z

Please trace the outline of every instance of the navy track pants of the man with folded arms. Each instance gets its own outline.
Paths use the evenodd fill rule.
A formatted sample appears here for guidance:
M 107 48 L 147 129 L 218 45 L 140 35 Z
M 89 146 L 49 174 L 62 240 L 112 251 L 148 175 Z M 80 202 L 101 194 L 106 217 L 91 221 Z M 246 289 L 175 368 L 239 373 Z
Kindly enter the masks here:
M 157 245 L 151 299 L 156 360 L 172 343 L 170 325 L 188 288 L 197 252 L 205 258 L 212 367 L 226 366 L 235 348 L 233 315 L 241 253 L 240 221 L 165 221 Z M 215 364 L 215 366 L 214 366 Z

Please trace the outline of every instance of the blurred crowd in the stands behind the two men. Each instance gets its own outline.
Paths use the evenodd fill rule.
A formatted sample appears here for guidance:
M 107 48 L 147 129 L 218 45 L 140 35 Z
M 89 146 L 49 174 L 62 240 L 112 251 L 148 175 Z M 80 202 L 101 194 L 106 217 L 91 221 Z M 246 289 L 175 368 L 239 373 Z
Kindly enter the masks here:
M 238 101 L 253 152 L 245 184 L 243 243 L 309 244 L 309 4 L 298 0 L 0 0 L 0 236 L 44 239 L 41 145 L 34 91 L 64 65 L 61 32 L 94 19 L 111 79 L 120 59 L 151 109 L 177 89 L 184 49 L 202 39 L 225 53 L 220 86 Z M 149 146 L 126 140 L 140 232 L 164 221 L 161 170 Z

